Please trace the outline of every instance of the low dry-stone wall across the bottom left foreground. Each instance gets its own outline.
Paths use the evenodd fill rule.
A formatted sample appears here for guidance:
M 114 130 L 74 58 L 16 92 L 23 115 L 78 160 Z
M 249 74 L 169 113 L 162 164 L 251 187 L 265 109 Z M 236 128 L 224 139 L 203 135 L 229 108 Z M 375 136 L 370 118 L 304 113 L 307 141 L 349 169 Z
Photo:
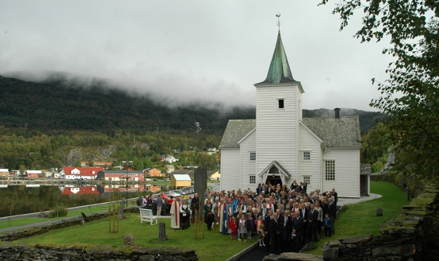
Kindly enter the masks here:
M 169 260 L 196 261 L 189 248 L 135 248 L 133 246 L 44 246 L 0 242 L 0 260 Z

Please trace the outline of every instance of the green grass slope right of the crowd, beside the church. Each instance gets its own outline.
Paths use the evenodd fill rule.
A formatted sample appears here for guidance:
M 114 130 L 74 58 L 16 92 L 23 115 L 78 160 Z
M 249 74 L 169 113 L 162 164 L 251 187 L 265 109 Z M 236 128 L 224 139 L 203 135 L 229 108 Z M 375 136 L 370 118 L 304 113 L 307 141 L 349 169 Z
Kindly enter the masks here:
M 400 215 L 402 206 L 409 204 L 399 187 L 391 182 L 370 182 L 370 193 L 379 194 L 382 197 L 361 203 L 346 205 L 347 210 L 339 213 L 335 222 L 335 235 L 325 238 L 322 231 L 317 248 L 303 253 L 322 255 L 323 245 L 330 239 L 336 240 L 350 236 L 360 236 L 372 233 L 379 234 L 379 226 Z M 376 216 L 376 208 L 383 209 L 382 216 Z

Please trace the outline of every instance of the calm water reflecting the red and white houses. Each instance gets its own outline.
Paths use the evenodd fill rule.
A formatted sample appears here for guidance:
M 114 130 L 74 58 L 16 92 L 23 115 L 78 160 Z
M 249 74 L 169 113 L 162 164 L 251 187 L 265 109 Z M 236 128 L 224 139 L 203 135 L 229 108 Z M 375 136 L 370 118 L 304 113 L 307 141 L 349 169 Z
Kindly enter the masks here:
M 63 185 L 27 187 L 24 185 L 3 185 L 0 187 L 0 217 L 48 211 L 56 203 L 64 203 L 71 208 L 93 203 L 119 200 L 129 193 L 129 198 L 167 191 L 159 185 Z

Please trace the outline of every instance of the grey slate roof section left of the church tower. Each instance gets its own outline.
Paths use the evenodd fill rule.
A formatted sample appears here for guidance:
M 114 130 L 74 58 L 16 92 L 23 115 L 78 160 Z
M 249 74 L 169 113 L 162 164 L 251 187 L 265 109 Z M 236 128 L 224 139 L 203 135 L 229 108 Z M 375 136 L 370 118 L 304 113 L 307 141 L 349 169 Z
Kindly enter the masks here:
M 256 119 L 229 120 L 225 128 L 220 148 L 239 148 L 238 142 L 256 127 Z

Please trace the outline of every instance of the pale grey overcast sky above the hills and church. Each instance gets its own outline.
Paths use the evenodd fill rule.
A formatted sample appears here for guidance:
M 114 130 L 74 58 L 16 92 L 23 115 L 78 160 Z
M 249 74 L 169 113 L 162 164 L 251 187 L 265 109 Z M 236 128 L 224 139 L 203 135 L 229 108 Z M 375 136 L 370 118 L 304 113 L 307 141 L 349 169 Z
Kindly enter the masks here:
M 303 108 L 369 107 L 391 58 L 339 32 L 337 1 L 4 1 L 0 74 L 61 71 L 182 102 L 255 105 L 280 32 Z M 358 15 L 361 15 L 359 13 Z

